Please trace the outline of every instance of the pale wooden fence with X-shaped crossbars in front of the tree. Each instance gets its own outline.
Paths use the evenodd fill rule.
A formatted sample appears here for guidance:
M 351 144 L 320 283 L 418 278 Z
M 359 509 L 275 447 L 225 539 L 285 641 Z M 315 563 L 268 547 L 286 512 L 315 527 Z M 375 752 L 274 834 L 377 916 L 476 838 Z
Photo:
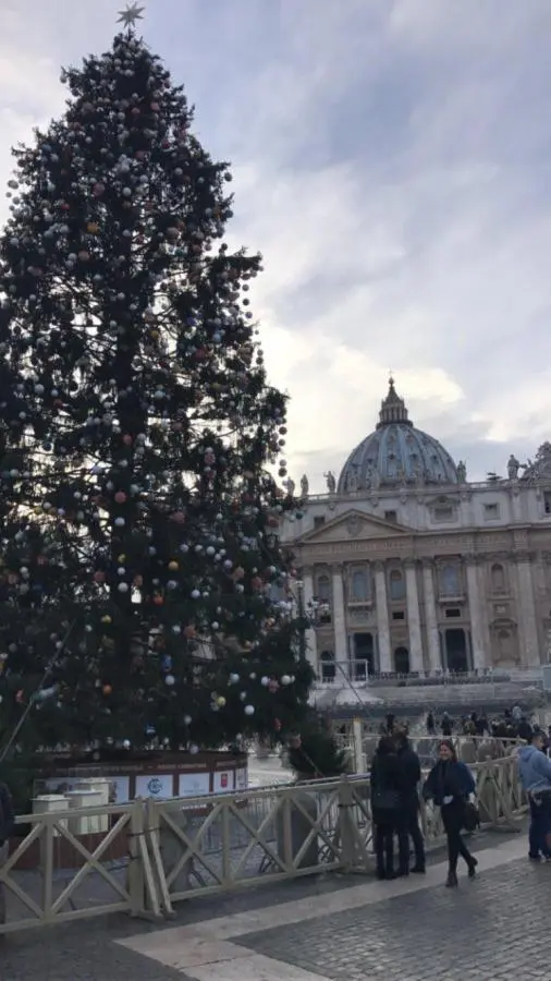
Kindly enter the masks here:
M 524 808 L 515 759 L 473 772 L 482 821 L 515 826 Z M 366 776 L 69 814 L 17 818 L 27 831 L 0 867 L 8 894 L 0 934 L 110 912 L 161 917 L 184 898 L 372 868 Z M 89 827 L 94 816 L 102 831 L 79 834 L 78 822 Z M 427 847 L 440 844 L 431 804 L 421 802 L 421 821 Z

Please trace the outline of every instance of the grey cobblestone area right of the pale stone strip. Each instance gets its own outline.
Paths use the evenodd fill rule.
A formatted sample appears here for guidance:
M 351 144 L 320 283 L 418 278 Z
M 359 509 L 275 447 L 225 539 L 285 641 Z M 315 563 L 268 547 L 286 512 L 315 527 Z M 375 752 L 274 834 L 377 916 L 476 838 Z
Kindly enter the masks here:
M 551 867 L 521 859 L 456 891 L 423 889 L 238 944 L 331 981 L 543 981 L 550 896 Z

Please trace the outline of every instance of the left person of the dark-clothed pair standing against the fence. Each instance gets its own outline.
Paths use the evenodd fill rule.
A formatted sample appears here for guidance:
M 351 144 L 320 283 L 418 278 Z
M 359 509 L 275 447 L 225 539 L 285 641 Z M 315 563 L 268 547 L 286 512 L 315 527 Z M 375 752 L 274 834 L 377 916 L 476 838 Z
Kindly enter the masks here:
M 378 879 L 394 879 L 394 835 L 399 839 L 399 875 L 409 871 L 408 838 L 402 813 L 402 767 L 391 736 L 379 740 L 371 763 L 371 814 Z

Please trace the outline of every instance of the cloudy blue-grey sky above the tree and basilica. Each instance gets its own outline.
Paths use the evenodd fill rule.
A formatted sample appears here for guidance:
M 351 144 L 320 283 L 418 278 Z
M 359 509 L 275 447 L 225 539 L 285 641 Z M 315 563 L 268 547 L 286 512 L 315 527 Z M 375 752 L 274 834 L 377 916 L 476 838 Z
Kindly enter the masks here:
M 0 0 L 0 183 L 121 0 Z M 550 0 L 149 0 L 143 33 L 233 162 L 291 472 L 321 489 L 389 368 L 472 479 L 551 439 Z M 5 214 L 0 197 L 0 218 Z

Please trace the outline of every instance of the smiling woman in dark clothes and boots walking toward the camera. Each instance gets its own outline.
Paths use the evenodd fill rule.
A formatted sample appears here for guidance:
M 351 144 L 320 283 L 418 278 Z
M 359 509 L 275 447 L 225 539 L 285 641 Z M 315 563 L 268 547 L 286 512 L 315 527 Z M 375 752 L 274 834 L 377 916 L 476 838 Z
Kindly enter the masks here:
M 468 801 L 475 799 L 476 784 L 470 770 L 457 760 L 451 739 L 442 739 L 438 748 L 438 762 L 430 771 L 423 796 L 440 808 L 442 824 L 448 839 L 446 886 L 457 885 L 457 862 L 460 855 L 465 859 L 469 879 L 476 875 L 478 861 L 470 855 L 462 837 L 465 826 L 465 811 Z

